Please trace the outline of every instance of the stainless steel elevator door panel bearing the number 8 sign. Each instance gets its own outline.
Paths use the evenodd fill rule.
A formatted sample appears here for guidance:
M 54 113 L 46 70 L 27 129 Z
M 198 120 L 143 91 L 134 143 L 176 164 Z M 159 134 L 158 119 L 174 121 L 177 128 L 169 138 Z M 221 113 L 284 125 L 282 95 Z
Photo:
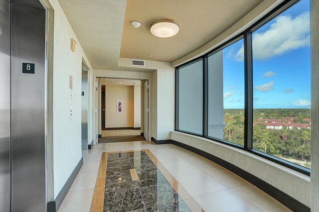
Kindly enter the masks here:
M 14 2 L 11 1 L 11 212 L 45 212 L 45 10 Z M 34 73 L 23 69 L 23 63 L 34 64 Z

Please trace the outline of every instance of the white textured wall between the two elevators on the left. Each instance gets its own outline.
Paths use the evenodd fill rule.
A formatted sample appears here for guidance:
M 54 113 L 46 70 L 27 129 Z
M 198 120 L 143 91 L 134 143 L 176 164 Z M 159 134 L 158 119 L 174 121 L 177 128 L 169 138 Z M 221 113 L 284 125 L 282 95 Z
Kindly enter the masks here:
M 52 172 L 54 195 L 61 191 L 82 157 L 81 149 L 81 92 L 82 58 L 90 65 L 74 31 L 57 0 L 49 0 L 54 9 L 53 44 L 53 161 L 48 161 Z M 50 28 L 49 30 L 53 30 Z M 70 50 L 70 38 L 77 40 L 76 51 Z M 73 97 L 70 100 L 69 75 L 73 76 Z M 70 121 L 72 105 L 72 121 Z M 52 147 L 50 147 L 52 151 Z M 53 163 L 53 164 L 52 164 Z M 51 188 L 49 188 L 49 191 Z

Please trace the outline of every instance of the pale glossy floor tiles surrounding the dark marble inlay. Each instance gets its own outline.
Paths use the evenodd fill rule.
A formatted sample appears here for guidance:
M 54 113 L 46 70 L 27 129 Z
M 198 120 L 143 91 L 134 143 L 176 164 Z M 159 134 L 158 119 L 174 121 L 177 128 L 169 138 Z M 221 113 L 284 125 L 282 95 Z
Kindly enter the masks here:
M 193 212 L 290 211 L 252 184 L 195 153 L 172 144 L 134 141 L 102 143 L 83 151 L 84 164 L 58 212 L 90 211 L 103 152 L 141 149 L 149 149 L 160 161 L 163 167 L 158 168 L 164 176 L 177 180 L 181 191 L 178 194 Z

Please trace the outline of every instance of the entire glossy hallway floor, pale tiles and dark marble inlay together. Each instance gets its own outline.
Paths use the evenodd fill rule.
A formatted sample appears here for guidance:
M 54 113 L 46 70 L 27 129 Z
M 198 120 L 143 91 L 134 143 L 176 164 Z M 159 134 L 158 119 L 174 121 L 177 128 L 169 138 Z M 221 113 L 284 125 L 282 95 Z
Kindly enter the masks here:
M 172 144 L 103 143 L 82 156 L 84 164 L 58 212 L 290 211 L 232 172 Z M 139 180 L 132 181 L 129 169 Z

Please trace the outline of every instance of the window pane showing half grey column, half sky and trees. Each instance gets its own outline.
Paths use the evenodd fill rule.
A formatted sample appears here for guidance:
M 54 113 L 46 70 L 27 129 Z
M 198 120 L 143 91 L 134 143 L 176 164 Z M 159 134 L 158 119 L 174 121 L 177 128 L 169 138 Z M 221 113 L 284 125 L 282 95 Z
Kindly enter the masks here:
M 208 136 L 244 145 L 245 66 L 241 39 L 208 57 Z

